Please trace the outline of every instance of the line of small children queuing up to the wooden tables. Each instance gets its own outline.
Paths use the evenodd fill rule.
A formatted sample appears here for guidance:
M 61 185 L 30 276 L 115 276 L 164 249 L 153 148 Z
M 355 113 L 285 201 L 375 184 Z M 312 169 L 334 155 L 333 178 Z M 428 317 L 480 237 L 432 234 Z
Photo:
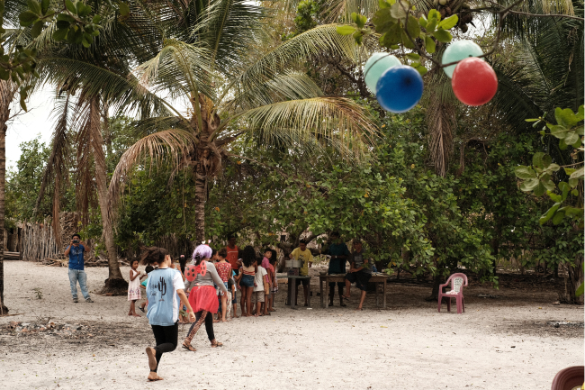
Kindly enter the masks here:
M 227 261 L 227 249 L 219 251 L 213 249 L 211 261 L 217 269 L 224 286 L 228 290 L 227 295 L 220 294 L 220 287 L 216 286 L 220 309 L 214 322 L 227 322 L 229 319 L 238 318 L 238 299 L 237 290 L 241 289 L 241 316 L 258 317 L 270 315 L 275 312 L 273 307 L 275 294 L 278 291 L 278 282 L 276 280 L 275 249 L 264 249 L 264 256 L 257 257 L 256 250 L 247 246 L 238 253 L 238 269 L 232 269 L 231 264 Z M 184 280 L 184 269 L 186 259 L 182 255 L 178 264 L 173 262 L 170 268 L 175 268 L 181 273 Z M 140 317 L 136 313 L 136 302 L 141 299 L 141 289 L 146 289 L 148 273 L 154 268 L 147 266 L 144 274 L 139 270 L 139 260 L 132 260 L 130 263 L 130 283 L 128 285 L 128 300 L 130 301 L 130 311 L 128 315 Z M 140 282 L 141 281 L 141 282 Z M 188 292 L 187 296 L 188 296 Z M 146 313 L 148 300 L 139 305 L 139 310 Z M 188 323 L 184 307 L 179 311 L 179 323 Z

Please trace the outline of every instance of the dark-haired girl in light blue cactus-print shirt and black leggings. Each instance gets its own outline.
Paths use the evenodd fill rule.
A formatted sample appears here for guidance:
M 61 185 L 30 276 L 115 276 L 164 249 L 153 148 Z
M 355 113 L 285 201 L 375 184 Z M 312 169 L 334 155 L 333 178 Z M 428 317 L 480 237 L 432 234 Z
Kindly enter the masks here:
M 148 382 L 162 380 L 157 375 L 158 363 L 163 353 L 176 349 L 179 333 L 179 303 L 187 307 L 189 318 L 195 322 L 193 309 L 184 295 L 184 282 L 181 273 L 170 268 L 172 260 L 166 249 L 151 247 L 142 255 L 141 263 L 158 267 L 148 275 L 147 299 L 148 322 L 152 327 L 157 346 L 147 347 Z M 177 299 L 178 298 L 178 299 Z

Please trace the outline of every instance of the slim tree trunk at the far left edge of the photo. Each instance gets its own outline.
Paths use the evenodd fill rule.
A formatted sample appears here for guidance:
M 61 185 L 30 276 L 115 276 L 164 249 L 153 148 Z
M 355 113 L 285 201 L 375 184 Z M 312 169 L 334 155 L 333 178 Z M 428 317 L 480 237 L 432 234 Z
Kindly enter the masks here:
M 0 315 L 8 313 L 4 305 L 4 199 L 6 182 L 6 131 L 10 118 L 10 104 L 16 94 L 16 85 L 0 81 Z

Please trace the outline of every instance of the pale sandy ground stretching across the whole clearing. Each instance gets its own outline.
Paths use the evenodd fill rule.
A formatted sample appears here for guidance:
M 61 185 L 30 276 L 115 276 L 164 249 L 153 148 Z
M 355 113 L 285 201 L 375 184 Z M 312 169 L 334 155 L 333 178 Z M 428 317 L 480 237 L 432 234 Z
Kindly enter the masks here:
M 128 268 L 123 268 L 127 275 Z M 86 268 L 90 291 L 106 268 Z M 159 367 L 162 382 L 147 383 L 148 320 L 127 316 L 125 296 L 92 294 L 71 302 L 67 268 L 4 262 L 0 318 L 0 388 L 5 389 L 550 389 L 557 371 L 583 364 L 583 328 L 549 321 L 583 321 L 582 306 L 554 306 L 554 292 L 470 286 L 463 315 L 437 313 L 428 287 L 390 286 L 388 308 L 293 311 L 285 286 L 270 317 L 215 326 L 224 347 L 211 349 L 201 330 L 195 353 L 175 350 Z M 33 288 L 39 288 L 38 299 Z M 319 291 L 313 286 L 313 291 Z M 496 299 L 478 294 L 497 295 Z M 315 294 L 316 295 L 316 294 Z M 355 293 L 354 293 L 355 295 Z M 81 294 L 79 294 L 81 297 Z M 355 295 L 356 296 L 356 295 Z M 78 323 L 68 335 L 8 331 L 8 323 Z M 181 340 L 187 328 L 180 329 Z

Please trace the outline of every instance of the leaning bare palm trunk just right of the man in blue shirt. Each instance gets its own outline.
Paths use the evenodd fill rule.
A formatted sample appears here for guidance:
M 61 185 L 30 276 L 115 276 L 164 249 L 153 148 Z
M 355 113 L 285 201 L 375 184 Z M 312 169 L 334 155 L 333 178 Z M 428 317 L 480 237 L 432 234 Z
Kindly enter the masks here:
M 118 253 L 113 242 L 112 220 L 108 213 L 109 196 L 100 117 L 99 100 L 94 98 L 90 106 L 90 126 L 92 132 L 92 150 L 94 151 L 95 185 L 97 186 L 97 201 L 100 204 L 100 213 L 102 213 L 103 240 L 105 242 L 105 249 L 108 252 L 109 268 L 109 275 L 105 280 L 102 294 L 112 293 L 115 295 L 124 295 L 128 292 L 128 282 L 121 276 Z

